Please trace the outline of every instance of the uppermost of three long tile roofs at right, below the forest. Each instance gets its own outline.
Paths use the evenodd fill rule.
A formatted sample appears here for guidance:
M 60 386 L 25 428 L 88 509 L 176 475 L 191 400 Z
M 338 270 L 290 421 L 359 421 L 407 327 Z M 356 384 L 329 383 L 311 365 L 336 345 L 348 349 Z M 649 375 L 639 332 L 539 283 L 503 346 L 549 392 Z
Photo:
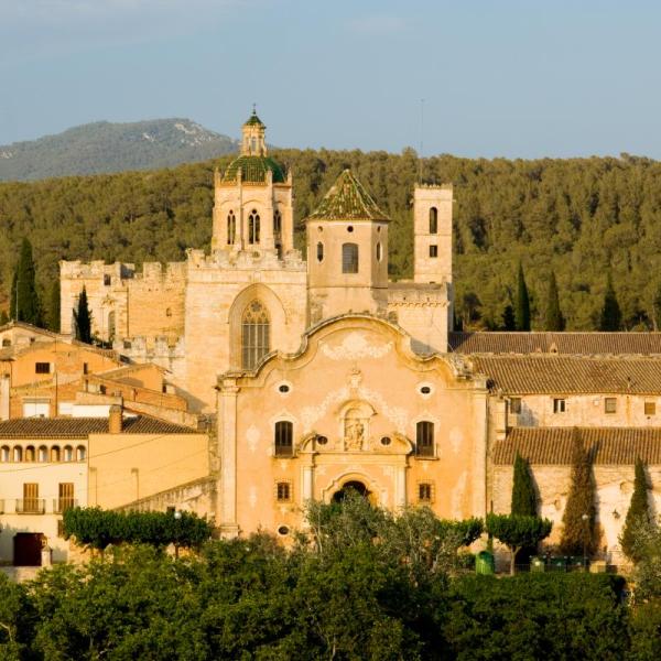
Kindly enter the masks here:
M 459 354 L 661 355 L 661 333 L 449 333 Z

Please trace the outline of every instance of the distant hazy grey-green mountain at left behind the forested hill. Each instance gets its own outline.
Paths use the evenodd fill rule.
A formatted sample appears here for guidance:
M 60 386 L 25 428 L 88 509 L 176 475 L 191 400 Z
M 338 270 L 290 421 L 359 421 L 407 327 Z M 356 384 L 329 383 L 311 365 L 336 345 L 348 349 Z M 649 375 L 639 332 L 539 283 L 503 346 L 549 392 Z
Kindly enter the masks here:
M 0 181 L 170 167 L 231 153 L 237 145 L 189 119 L 98 121 L 0 145 Z

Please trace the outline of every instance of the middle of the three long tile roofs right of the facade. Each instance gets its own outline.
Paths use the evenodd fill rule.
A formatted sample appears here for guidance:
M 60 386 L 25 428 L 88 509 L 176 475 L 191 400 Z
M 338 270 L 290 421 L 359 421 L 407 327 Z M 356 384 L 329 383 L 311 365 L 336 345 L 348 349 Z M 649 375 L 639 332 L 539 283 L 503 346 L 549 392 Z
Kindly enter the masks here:
M 587 356 L 472 356 L 489 388 L 516 394 L 661 393 L 661 359 Z

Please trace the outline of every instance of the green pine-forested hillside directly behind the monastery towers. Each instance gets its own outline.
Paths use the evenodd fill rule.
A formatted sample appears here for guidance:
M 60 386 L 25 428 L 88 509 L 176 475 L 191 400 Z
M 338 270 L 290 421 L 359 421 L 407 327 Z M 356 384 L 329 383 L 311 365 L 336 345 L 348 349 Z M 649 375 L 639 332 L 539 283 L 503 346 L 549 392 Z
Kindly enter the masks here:
M 393 278 L 411 275 L 412 150 L 274 152 L 293 167 L 296 231 L 344 167 L 351 167 L 392 218 Z M 181 260 L 208 248 L 213 167 L 231 156 L 173 170 L 0 184 L 0 288 L 4 299 L 23 236 L 42 288 L 59 259 Z M 567 329 L 596 327 L 613 274 L 625 328 L 654 326 L 661 284 L 661 163 L 647 159 L 508 161 L 449 155 L 423 163 L 427 182 L 455 185 L 457 313 L 472 327 L 498 327 L 522 263 L 532 326 L 541 328 L 551 271 Z M 661 311 L 660 311 L 661 312 Z

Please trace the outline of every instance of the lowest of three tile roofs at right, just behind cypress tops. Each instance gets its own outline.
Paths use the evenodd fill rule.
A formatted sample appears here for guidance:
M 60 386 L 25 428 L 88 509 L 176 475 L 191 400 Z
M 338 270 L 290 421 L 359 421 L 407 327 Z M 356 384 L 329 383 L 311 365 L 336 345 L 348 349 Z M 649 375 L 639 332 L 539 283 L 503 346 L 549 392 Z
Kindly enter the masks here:
M 514 427 L 494 446 L 494 464 L 513 464 L 519 452 L 531 464 L 571 465 L 574 434 L 596 465 L 661 465 L 661 427 Z

